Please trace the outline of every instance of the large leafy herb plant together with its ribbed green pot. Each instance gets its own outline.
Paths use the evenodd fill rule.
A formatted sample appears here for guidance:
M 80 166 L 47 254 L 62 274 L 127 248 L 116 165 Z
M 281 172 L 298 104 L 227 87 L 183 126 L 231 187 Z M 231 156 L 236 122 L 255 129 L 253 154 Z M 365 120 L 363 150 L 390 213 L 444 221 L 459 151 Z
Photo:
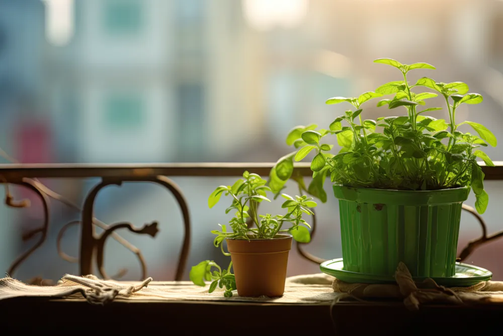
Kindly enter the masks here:
M 295 152 L 278 160 L 270 174 L 270 185 L 279 192 L 294 178 L 293 160 L 310 152 L 313 180 L 307 191 L 326 200 L 323 182 L 330 176 L 339 199 L 344 269 L 350 272 L 392 276 L 403 261 L 412 276 L 452 277 L 461 206 L 470 188 L 476 196 L 475 208 L 484 213 L 488 195 L 484 173 L 477 158 L 493 166 L 479 147 L 496 146 L 496 138 L 485 126 L 456 123 L 461 104 L 478 104 L 482 96 L 468 93 L 463 82 L 441 83 L 423 77 L 411 85 L 410 71 L 431 69 L 428 63 L 402 64 L 380 58 L 374 62 L 391 65 L 401 78 L 365 92 L 357 98 L 334 97 L 326 104 L 349 103 L 351 110 L 337 117 L 328 129 L 316 125 L 298 126 L 287 137 Z M 417 89 L 434 92 L 416 92 Z M 397 117 L 363 119 L 362 105 L 382 99 L 377 106 L 406 112 Z M 424 108 L 426 100 L 441 96 L 449 120 L 427 116 L 441 107 Z M 398 111 L 398 110 L 397 110 Z M 476 135 L 463 133 L 471 126 Z M 337 135 L 342 147 L 330 153 L 324 138 Z

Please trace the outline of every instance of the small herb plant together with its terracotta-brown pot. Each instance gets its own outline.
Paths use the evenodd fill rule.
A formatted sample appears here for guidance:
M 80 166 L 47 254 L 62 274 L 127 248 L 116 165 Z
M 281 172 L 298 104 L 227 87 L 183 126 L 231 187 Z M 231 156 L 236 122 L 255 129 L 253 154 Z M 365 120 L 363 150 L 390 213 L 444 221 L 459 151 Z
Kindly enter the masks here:
M 194 284 L 205 286 L 205 280 L 211 281 L 209 292 L 217 286 L 225 287 L 224 296 L 232 296 L 237 289 L 239 296 L 281 296 L 285 291 L 288 252 L 292 246 L 292 237 L 303 243 L 310 241 L 309 224 L 302 219 L 303 214 L 312 215 L 309 208 L 316 207 L 312 197 L 305 195 L 290 197 L 282 194 L 286 200 L 282 208 L 285 215 L 259 215 L 258 204 L 270 201 L 267 192 L 271 188 L 267 181 L 257 174 L 243 173 L 232 186 L 221 185 L 208 198 L 208 206 L 215 206 L 222 194 L 230 196 L 232 203 L 225 213 L 234 212 L 229 221 L 232 231 L 225 225 L 215 234 L 213 244 L 219 247 L 224 255 L 230 255 L 231 262 L 226 270 L 214 261 L 205 260 L 193 266 L 190 279 Z M 256 227 L 246 224 L 250 218 Z M 290 223 L 289 228 L 283 224 Z M 227 242 L 229 252 L 224 251 L 223 242 Z M 231 273 L 233 268 L 234 273 Z M 211 272 L 214 269 L 215 271 Z

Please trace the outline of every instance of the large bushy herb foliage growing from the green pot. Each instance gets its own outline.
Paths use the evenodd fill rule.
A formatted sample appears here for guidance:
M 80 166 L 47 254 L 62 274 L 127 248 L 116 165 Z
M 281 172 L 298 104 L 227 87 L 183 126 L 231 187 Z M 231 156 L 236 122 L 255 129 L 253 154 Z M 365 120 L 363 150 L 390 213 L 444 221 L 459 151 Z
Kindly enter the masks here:
M 484 190 L 484 173 L 476 159 L 493 166 L 480 147 L 496 146 L 493 133 L 485 126 L 464 121 L 456 123 L 456 109 L 461 104 L 478 104 L 483 98 L 477 93 L 468 93 L 463 82 L 442 83 L 423 77 L 411 85 L 407 75 L 415 69 L 431 69 L 428 63 L 402 64 L 394 59 L 380 58 L 374 62 L 396 68 L 401 78 L 378 87 L 375 92 L 365 92 L 357 98 L 334 97 L 326 104 L 349 103 L 351 110 L 335 118 L 328 129 L 317 125 L 298 126 L 287 136 L 287 144 L 296 148 L 276 163 L 270 173 L 274 192 L 280 192 L 286 180 L 299 178 L 293 175 L 293 160 L 300 161 L 310 152 L 316 155 L 311 160 L 313 180 L 307 192 L 326 201 L 323 183 L 327 175 L 333 183 L 379 189 L 437 190 L 471 186 L 476 196 L 475 208 L 485 212 L 488 195 Z M 427 88 L 435 92 L 414 92 Z M 381 117 L 377 120 L 363 119 L 362 105 L 383 95 L 377 106 L 389 109 L 400 108 L 406 115 Z M 423 108 L 426 100 L 442 96 L 449 113 L 449 120 L 436 119 L 426 112 L 441 110 L 441 107 Z M 471 126 L 476 135 L 463 133 L 460 127 Z M 342 147 L 339 153 L 331 154 L 332 145 L 324 138 L 337 136 Z M 305 189 L 303 181 L 299 188 Z

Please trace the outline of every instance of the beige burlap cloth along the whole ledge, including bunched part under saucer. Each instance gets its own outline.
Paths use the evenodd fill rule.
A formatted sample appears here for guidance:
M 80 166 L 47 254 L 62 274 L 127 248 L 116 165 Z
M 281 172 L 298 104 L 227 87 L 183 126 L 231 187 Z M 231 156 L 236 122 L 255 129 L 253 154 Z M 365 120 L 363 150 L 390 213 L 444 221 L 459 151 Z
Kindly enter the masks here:
M 313 304 L 357 301 L 403 301 L 407 308 L 418 309 L 425 303 L 450 304 L 503 304 L 503 282 L 487 281 L 470 287 L 446 288 L 432 279 L 414 283 L 407 267 L 400 264 L 395 279 L 397 284 L 350 284 L 325 274 L 302 275 L 287 278 L 285 294 L 278 298 L 223 297 L 223 290 L 209 294 L 208 286 L 199 287 L 191 282 L 154 282 L 148 278 L 141 283 L 100 280 L 95 276 L 66 275 L 56 286 L 32 286 L 13 278 L 0 279 L 0 300 L 15 297 L 48 297 L 68 300 L 85 298 L 93 304 L 119 300 L 199 300 L 244 301 L 264 303 Z

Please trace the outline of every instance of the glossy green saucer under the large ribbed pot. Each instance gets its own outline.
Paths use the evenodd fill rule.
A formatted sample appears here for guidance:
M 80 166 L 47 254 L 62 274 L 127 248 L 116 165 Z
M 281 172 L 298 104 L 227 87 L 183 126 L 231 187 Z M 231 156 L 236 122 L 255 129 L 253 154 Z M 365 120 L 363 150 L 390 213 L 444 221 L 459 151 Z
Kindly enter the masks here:
M 343 259 L 332 259 L 319 265 L 321 272 L 336 277 L 349 283 L 364 284 L 396 284 L 393 277 L 379 276 L 366 273 L 349 272 L 343 270 Z M 456 274 L 453 277 L 433 277 L 432 279 L 441 286 L 464 287 L 491 280 L 492 273 L 484 268 L 456 262 Z M 415 282 L 422 282 L 426 277 L 413 277 Z

